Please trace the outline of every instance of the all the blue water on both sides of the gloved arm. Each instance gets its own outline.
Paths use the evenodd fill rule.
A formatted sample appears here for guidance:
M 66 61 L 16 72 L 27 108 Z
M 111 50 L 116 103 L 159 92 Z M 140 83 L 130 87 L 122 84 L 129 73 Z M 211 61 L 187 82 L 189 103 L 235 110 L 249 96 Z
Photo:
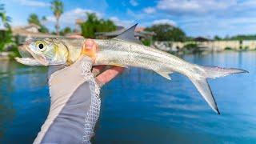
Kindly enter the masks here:
M 94 143 L 255 143 L 256 52 L 186 55 L 250 71 L 210 80 L 221 115 L 188 78 L 130 68 L 102 88 Z M 46 69 L 0 62 L 0 143 L 31 143 L 50 106 Z

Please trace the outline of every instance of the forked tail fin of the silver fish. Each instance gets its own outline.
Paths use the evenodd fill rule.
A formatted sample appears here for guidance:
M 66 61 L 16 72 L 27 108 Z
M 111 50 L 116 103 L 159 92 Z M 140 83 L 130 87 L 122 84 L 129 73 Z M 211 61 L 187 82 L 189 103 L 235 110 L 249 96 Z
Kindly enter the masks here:
M 224 77 L 230 74 L 239 74 L 239 73 L 248 73 L 246 70 L 241 69 L 226 69 L 221 67 L 213 67 L 213 66 L 199 66 L 194 69 L 195 73 L 203 74 L 198 76 L 189 76 L 190 80 L 194 83 L 194 86 L 198 89 L 199 93 L 202 94 L 202 97 L 206 100 L 206 102 L 210 105 L 210 107 L 218 114 L 220 114 L 218 110 L 217 103 L 215 102 L 214 96 L 210 90 L 210 86 L 207 82 L 207 78 L 218 78 Z M 202 72 L 203 71 L 203 72 Z

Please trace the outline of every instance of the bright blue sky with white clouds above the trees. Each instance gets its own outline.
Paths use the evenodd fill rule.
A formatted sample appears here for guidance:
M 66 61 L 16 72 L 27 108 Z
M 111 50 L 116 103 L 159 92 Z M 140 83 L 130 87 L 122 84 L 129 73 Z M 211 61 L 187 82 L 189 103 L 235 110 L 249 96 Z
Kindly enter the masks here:
M 45 25 L 54 30 L 50 1 L 2 0 L 13 26 L 26 25 L 31 13 L 48 19 Z M 86 19 L 85 12 L 110 18 L 116 24 L 151 26 L 170 23 L 189 36 L 222 37 L 235 34 L 256 34 L 255 0 L 76 0 L 64 2 L 61 27 L 74 27 L 77 18 Z

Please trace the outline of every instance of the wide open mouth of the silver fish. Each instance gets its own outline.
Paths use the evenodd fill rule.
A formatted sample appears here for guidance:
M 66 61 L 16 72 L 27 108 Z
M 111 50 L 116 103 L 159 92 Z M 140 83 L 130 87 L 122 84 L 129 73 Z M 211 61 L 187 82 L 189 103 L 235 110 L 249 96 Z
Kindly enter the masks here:
M 18 46 L 18 52 L 22 58 L 16 57 L 15 60 L 26 66 L 49 66 L 49 62 L 43 55 L 35 54 L 28 48 L 28 42 Z

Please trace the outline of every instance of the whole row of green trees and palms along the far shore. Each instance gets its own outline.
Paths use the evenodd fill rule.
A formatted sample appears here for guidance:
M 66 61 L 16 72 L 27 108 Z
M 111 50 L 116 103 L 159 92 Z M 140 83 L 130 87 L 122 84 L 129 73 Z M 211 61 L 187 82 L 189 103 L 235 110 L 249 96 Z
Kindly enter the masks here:
M 51 32 L 51 34 L 57 35 L 66 35 L 74 32 L 70 27 L 65 27 L 61 29 L 60 27 L 60 18 L 64 12 L 64 4 L 61 0 L 53 0 L 50 2 L 50 10 L 52 10 L 54 17 L 56 19 L 56 23 L 54 25 L 55 31 Z M 6 16 L 4 5 L 0 5 L 0 17 L 2 19 L 2 23 L 7 29 L 6 34 L 4 34 L 4 38 L 2 39 L 2 43 L 0 42 L 0 49 L 3 43 L 10 41 L 11 39 L 11 29 L 10 29 L 10 18 Z M 50 30 L 44 26 L 44 23 L 47 21 L 46 17 L 43 16 L 39 18 L 37 14 L 30 14 L 27 19 L 28 23 L 34 23 L 40 26 L 39 32 L 41 33 L 50 33 Z M 95 38 L 95 33 L 97 32 L 109 32 L 117 30 L 117 25 L 111 21 L 110 19 L 98 18 L 94 13 L 86 13 L 86 21 L 79 24 L 81 28 L 81 34 L 85 38 Z M 145 29 L 146 31 L 152 31 L 155 33 L 153 36 L 154 41 L 174 41 L 174 42 L 185 42 L 190 41 L 193 38 L 186 36 L 186 33 L 179 28 L 178 26 L 172 26 L 167 23 L 157 24 L 153 26 L 148 26 Z M 1 37 L 1 36 L 0 36 Z M 237 35 L 234 37 L 226 37 L 220 38 L 218 36 L 214 37 L 215 40 L 243 40 L 243 39 L 256 39 L 256 35 Z

